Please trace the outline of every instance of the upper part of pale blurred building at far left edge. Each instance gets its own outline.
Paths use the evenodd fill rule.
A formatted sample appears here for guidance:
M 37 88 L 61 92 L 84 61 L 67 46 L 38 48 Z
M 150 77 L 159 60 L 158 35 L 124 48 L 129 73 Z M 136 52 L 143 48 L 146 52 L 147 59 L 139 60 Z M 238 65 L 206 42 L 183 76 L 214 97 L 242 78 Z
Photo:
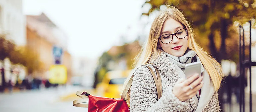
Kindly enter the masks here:
M 22 0 L 0 0 L 0 33 L 7 34 L 16 45 L 25 45 L 25 16 Z

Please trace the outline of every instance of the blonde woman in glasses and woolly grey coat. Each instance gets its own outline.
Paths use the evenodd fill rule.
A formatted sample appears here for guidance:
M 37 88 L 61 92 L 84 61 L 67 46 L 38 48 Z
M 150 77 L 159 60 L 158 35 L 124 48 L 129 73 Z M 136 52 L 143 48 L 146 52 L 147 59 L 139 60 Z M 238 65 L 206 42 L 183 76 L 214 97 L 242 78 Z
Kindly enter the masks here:
M 201 74 L 185 79 L 185 64 L 199 61 Z M 162 97 L 149 69 L 159 69 Z M 168 6 L 153 21 L 149 38 L 137 56 L 130 89 L 130 112 L 219 112 L 220 64 L 195 42 L 184 15 Z

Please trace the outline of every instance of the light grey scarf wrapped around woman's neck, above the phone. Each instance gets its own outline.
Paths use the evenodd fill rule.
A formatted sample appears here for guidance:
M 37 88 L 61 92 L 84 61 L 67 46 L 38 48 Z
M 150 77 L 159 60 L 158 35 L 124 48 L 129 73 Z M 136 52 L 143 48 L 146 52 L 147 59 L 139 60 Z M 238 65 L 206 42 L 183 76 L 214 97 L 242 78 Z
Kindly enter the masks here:
M 164 52 L 164 51 L 163 51 Z M 196 55 L 196 52 L 193 50 L 188 49 L 185 54 L 181 57 L 173 56 L 169 53 L 164 52 L 164 54 L 167 55 L 167 57 L 170 59 L 170 61 L 181 68 L 181 70 L 185 73 L 185 65 L 188 63 L 193 63 L 196 61 L 200 61 L 199 57 Z M 201 73 L 204 71 L 204 67 L 201 63 Z

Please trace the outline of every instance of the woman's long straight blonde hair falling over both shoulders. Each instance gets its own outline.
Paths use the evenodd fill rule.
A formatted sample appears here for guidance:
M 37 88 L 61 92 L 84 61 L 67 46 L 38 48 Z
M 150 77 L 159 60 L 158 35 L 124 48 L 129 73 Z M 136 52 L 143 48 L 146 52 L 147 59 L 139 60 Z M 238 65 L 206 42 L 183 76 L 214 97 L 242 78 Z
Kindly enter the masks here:
M 173 18 L 187 28 L 188 47 L 197 53 L 204 68 L 206 69 L 206 71 L 210 75 L 210 78 L 212 79 L 214 89 L 217 91 L 220 88 L 221 80 L 223 78 L 220 64 L 215 59 L 213 59 L 208 53 L 203 51 L 203 49 L 196 43 L 193 29 L 191 28 L 190 24 L 186 21 L 184 15 L 180 12 L 180 10 L 169 5 L 167 5 L 167 7 L 168 8 L 165 11 L 160 12 L 160 14 L 154 19 L 149 32 L 149 37 L 142 46 L 141 52 L 135 58 L 135 69 L 140 65 L 148 63 L 150 57 L 157 53 L 157 50 L 159 49 L 159 47 L 157 47 L 157 44 L 159 42 L 158 37 L 160 36 L 163 24 L 165 20 L 167 20 L 168 18 Z M 134 72 L 134 70 L 132 72 Z M 218 71 L 221 72 L 221 74 L 219 74 Z M 124 86 L 128 83 L 130 77 L 127 78 Z

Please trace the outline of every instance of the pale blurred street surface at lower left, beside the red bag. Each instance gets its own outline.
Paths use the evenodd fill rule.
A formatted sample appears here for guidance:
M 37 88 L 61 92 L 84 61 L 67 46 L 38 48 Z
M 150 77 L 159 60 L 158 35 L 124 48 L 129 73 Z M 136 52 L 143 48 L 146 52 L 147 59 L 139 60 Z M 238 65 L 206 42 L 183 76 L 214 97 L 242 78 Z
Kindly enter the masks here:
M 41 90 L 26 90 L 0 94 L 0 112 L 87 112 L 87 108 L 74 107 L 72 101 L 81 87 L 65 86 Z

